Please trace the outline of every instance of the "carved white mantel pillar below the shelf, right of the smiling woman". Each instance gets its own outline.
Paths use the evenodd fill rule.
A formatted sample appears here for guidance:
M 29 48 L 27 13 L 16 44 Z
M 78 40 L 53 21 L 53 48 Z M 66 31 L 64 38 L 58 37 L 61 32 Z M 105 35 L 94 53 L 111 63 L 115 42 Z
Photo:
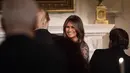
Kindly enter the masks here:
M 104 34 L 100 34 L 100 33 L 91 33 L 91 34 L 86 34 L 85 35 L 85 42 L 88 44 L 89 46 L 89 59 L 91 59 L 94 51 L 96 49 L 105 49 L 103 47 L 103 36 Z

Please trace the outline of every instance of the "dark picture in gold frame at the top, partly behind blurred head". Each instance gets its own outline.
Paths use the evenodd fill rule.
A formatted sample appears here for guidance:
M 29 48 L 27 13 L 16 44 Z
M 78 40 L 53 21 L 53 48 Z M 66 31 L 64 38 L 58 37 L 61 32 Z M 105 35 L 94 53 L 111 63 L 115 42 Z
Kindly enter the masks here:
M 2 1 L 0 0 L 0 10 Z M 36 0 L 36 3 L 49 12 L 74 12 L 75 0 Z

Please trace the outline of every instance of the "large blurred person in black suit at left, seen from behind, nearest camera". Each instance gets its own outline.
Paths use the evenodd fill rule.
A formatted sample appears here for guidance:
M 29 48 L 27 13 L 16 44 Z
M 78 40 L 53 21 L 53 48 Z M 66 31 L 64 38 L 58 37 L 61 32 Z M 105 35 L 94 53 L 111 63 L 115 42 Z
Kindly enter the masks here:
M 34 39 L 37 5 L 33 0 L 4 0 L 0 73 L 64 73 L 59 51 Z M 56 53 L 56 54 L 55 54 Z

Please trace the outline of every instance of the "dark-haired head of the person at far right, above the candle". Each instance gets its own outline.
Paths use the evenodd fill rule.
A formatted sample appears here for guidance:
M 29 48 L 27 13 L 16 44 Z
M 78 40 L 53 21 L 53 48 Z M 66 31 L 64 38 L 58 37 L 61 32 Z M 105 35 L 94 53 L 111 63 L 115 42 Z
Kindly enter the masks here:
M 110 48 L 113 47 L 115 49 L 128 49 L 129 36 L 125 30 L 121 28 L 115 28 L 111 30 L 109 39 Z

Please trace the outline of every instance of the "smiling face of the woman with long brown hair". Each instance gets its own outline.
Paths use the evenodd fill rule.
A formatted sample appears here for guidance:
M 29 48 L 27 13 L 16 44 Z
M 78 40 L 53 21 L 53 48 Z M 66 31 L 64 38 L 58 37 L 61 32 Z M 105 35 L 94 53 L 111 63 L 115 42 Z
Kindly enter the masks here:
M 66 25 L 65 33 L 68 36 L 68 38 L 70 38 L 70 39 L 77 38 L 76 30 L 75 30 L 75 28 L 74 28 L 74 26 L 72 25 L 71 22 L 68 22 L 68 24 Z

